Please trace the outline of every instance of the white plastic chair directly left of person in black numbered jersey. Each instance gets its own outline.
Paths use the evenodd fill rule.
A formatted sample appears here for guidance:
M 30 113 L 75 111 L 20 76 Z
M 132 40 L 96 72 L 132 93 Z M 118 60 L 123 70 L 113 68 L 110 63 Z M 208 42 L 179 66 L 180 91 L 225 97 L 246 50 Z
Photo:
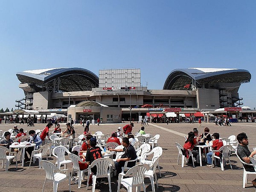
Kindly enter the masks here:
M 80 170 L 79 162 L 80 163 L 86 163 L 86 162 L 83 162 L 81 160 L 81 158 L 78 157 L 75 154 L 68 154 L 68 157 L 70 158 L 70 160 L 72 161 L 72 164 L 73 164 L 72 172 L 71 172 L 71 176 L 70 177 L 72 177 L 73 172 L 77 172 L 77 175 L 78 175 L 78 188 L 80 188 L 81 187 L 81 183 L 82 183 L 82 178 L 84 178 L 84 173 L 88 172 L 88 169 Z

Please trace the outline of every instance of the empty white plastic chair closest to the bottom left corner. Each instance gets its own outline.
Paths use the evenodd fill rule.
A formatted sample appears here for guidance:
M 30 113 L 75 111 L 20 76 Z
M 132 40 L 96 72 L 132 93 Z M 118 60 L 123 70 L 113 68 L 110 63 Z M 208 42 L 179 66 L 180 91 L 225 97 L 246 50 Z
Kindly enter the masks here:
M 46 172 L 46 177 L 44 180 L 44 184 L 46 181 L 53 182 L 53 192 L 57 192 L 58 188 L 58 183 L 64 180 L 69 181 L 69 190 L 71 192 L 71 187 L 70 187 L 70 172 L 68 169 L 63 169 L 60 170 L 58 169 L 53 163 L 46 161 L 46 160 L 41 160 L 40 166 L 43 167 L 43 169 Z M 66 172 L 66 174 L 60 173 L 60 172 Z M 43 191 L 44 192 L 44 185 L 43 185 Z

